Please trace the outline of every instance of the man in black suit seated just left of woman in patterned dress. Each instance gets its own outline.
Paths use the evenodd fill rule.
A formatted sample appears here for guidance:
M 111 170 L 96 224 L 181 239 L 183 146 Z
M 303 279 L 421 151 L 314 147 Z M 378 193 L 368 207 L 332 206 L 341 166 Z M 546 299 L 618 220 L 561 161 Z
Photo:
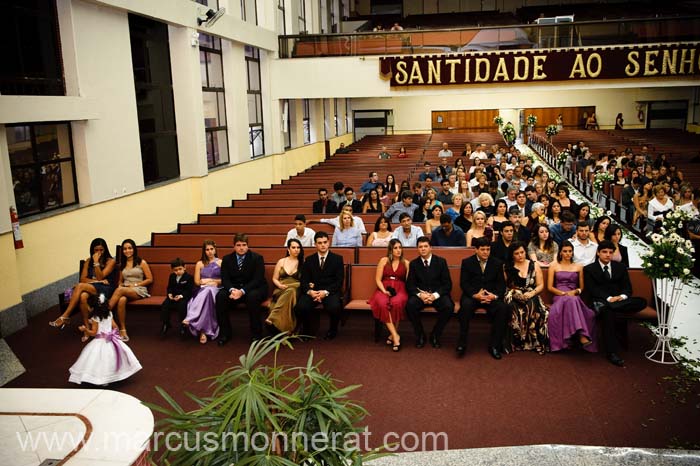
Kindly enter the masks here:
M 513 228 L 512 225 L 508 227 L 511 230 Z M 462 357 L 467 351 L 469 321 L 474 317 L 474 311 L 484 308 L 491 320 L 488 351 L 494 359 L 501 359 L 503 336 L 510 315 L 509 306 L 503 302 L 503 295 L 506 292 L 503 261 L 491 254 L 491 243 L 488 238 L 475 238 L 472 245 L 476 248 L 476 254 L 462 260 L 462 270 L 459 275 L 462 299 L 460 299 L 457 314 L 459 319 L 457 356 Z

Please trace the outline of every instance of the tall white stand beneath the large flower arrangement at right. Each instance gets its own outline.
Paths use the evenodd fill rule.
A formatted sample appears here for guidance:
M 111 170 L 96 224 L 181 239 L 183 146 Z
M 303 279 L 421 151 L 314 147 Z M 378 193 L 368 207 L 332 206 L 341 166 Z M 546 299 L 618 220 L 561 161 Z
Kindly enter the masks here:
M 647 351 L 648 360 L 659 364 L 678 364 L 678 358 L 671 347 L 673 316 L 678 308 L 683 281 L 680 278 L 656 278 L 652 280 L 658 327 L 656 345 Z

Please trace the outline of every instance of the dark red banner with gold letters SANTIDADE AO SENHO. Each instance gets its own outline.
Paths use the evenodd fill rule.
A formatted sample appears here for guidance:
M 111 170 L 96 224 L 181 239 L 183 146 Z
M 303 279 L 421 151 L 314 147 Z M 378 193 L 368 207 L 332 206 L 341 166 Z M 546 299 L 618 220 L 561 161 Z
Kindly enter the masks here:
M 381 57 L 391 87 L 700 76 L 700 42 Z

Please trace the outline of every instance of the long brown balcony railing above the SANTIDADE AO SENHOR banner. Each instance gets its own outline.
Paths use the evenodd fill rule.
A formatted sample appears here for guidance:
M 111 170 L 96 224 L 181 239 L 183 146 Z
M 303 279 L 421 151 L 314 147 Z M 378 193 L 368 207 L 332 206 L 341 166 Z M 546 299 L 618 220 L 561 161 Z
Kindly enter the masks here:
M 280 58 L 442 54 L 694 41 L 700 16 L 280 36 Z

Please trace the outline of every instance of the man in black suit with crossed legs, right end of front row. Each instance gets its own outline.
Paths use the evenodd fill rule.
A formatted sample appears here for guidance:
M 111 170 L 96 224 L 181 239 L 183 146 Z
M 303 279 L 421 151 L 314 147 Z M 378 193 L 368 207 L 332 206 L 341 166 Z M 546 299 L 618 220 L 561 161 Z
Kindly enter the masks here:
M 639 312 L 647 307 L 647 301 L 631 296 L 632 282 L 627 267 L 612 260 L 613 252 L 615 245 L 612 241 L 601 241 L 596 252 L 597 260 L 585 266 L 583 274 L 591 307 L 602 321 L 608 361 L 624 366 L 625 361 L 617 354 L 615 313 Z

